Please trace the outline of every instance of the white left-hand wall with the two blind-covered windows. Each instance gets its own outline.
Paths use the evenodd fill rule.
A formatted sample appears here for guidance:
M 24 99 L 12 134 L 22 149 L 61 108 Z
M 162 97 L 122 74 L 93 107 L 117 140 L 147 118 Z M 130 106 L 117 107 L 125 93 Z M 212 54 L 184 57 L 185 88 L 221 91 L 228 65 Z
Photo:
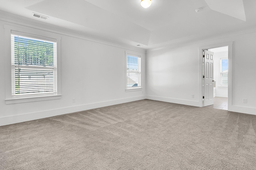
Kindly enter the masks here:
M 37 27 L 47 34 L 61 37 L 61 99 L 18 104 L 6 104 L 5 76 L 10 66 L 4 66 L 0 53 L 0 125 L 18 123 L 75 111 L 109 106 L 145 98 L 145 51 L 92 41 L 70 33 L 58 32 L 16 21 L 0 20 L 0 51 L 4 51 L 4 24 L 16 27 Z M 28 26 L 28 27 L 27 27 Z M 46 25 L 45 27 L 50 27 Z M 34 28 L 32 28 L 34 29 Z M 142 57 L 142 90 L 125 91 L 125 51 Z M 76 102 L 72 102 L 72 98 Z

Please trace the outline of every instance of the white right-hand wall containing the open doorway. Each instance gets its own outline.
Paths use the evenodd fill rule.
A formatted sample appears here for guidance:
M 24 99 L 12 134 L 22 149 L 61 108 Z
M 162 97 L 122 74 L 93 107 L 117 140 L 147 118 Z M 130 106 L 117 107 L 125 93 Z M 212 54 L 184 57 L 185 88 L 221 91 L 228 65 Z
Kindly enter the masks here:
M 244 33 L 147 51 L 147 98 L 202 106 L 199 49 L 233 42 L 232 59 L 229 59 L 229 64 L 232 64 L 232 82 L 229 82 L 228 87 L 228 97 L 231 97 L 228 110 L 256 114 L 256 54 L 252 51 L 256 47 L 255 37 L 255 32 Z M 191 98 L 192 94 L 194 98 Z M 242 102 L 243 98 L 247 99 L 247 103 Z

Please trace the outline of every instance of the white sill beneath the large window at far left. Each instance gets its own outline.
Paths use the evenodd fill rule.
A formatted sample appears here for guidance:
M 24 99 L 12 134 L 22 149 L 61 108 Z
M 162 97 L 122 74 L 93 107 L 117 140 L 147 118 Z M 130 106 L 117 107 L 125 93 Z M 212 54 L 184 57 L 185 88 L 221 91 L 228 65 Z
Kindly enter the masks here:
M 60 98 L 61 98 L 61 95 L 6 99 L 5 104 L 17 104 L 17 103 L 36 102 L 36 101 L 44 101 L 44 100 L 56 100 Z

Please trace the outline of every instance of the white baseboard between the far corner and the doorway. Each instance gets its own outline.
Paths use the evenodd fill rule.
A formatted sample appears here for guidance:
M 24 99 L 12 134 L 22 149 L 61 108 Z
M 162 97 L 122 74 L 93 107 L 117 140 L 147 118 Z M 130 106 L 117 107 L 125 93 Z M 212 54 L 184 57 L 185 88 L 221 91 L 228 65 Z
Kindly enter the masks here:
M 158 97 L 158 96 L 146 96 L 146 98 L 150 99 L 150 100 L 158 100 L 158 101 L 162 101 L 162 102 L 169 102 L 169 103 L 176 103 L 176 104 L 184 104 L 184 105 L 189 105 L 189 106 L 202 107 L 202 104 L 200 104 L 198 101 L 192 101 L 192 100 L 164 98 L 164 97 Z

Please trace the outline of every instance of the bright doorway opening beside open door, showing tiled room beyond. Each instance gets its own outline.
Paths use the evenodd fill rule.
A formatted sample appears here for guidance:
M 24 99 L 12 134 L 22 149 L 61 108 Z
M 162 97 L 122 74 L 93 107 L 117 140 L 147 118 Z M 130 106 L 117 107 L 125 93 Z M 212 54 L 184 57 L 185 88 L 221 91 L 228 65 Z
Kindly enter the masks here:
M 228 110 L 228 46 L 206 50 L 214 53 L 213 104 L 207 107 Z

